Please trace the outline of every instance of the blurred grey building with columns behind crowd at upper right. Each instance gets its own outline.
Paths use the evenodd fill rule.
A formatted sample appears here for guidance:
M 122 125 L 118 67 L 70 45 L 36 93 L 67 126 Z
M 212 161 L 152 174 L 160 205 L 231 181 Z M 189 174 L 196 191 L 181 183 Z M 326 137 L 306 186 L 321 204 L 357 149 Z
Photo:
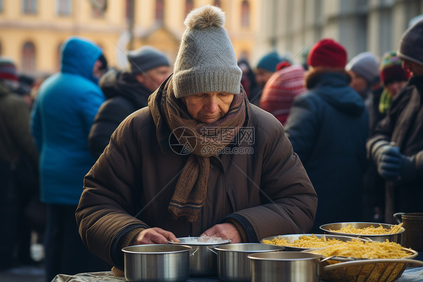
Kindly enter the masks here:
M 423 0 L 263 0 L 255 57 L 277 50 L 295 62 L 316 41 L 332 37 L 348 58 L 396 50 L 409 21 L 423 14 Z

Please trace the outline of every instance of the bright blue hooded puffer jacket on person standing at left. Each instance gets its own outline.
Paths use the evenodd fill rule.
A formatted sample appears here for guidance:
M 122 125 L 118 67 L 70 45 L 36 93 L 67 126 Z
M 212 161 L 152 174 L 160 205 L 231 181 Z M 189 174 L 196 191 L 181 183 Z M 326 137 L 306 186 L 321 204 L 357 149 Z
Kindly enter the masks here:
M 95 162 L 88 134 L 105 97 L 92 68 L 102 51 L 91 41 L 70 37 L 61 52 L 61 71 L 40 87 L 31 130 L 40 151 L 41 200 L 77 205 Z

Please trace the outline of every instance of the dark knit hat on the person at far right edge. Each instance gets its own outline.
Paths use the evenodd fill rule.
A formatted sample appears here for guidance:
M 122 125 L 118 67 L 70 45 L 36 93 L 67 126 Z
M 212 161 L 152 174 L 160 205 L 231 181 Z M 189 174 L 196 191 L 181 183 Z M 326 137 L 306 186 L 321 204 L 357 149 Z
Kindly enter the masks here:
M 404 31 L 396 54 L 402 60 L 423 65 L 423 20 Z

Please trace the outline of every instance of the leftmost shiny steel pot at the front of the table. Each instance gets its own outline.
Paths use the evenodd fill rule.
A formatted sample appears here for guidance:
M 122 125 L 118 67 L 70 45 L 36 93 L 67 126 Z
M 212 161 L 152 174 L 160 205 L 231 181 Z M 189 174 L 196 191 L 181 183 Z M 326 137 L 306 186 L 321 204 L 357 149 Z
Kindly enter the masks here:
M 137 245 L 122 251 L 127 281 L 185 282 L 189 277 L 189 246 Z

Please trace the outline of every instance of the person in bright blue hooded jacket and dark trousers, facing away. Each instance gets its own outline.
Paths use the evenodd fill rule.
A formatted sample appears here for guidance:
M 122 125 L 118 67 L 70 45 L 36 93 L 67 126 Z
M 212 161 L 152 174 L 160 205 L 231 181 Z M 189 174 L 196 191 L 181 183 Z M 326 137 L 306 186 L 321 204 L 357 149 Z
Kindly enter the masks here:
M 60 51 L 60 72 L 40 86 L 30 125 L 40 152 L 41 201 L 47 206 L 47 281 L 59 273 L 108 269 L 86 249 L 75 220 L 84 176 L 95 163 L 88 148 L 88 134 L 105 100 L 97 85 L 102 73 L 102 50 L 88 39 L 72 36 Z

